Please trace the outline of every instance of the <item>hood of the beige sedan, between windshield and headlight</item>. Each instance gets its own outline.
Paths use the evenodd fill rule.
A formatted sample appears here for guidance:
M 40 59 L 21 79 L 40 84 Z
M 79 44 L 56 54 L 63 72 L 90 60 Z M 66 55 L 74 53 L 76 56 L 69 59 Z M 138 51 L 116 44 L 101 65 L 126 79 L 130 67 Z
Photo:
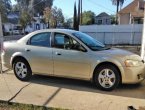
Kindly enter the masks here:
M 135 53 L 117 49 L 117 48 L 111 48 L 108 50 L 99 51 L 100 54 L 106 57 L 113 57 L 113 58 L 121 58 L 121 59 L 132 59 L 132 60 L 138 60 L 142 61 L 142 58 L 139 55 L 136 55 Z

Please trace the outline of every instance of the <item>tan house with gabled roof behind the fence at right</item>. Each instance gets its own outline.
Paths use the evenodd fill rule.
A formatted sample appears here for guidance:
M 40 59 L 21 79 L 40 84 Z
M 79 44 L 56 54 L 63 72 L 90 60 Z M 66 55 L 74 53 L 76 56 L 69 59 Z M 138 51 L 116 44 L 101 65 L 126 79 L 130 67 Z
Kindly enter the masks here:
M 144 18 L 144 0 L 134 0 L 118 12 L 119 24 L 142 24 Z

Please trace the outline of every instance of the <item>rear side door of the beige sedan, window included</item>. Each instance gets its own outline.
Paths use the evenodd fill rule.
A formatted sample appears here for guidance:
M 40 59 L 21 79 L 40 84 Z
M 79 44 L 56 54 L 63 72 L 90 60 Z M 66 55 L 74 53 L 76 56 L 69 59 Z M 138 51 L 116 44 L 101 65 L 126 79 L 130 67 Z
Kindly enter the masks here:
M 33 35 L 25 48 L 27 58 L 34 73 L 53 74 L 51 33 Z

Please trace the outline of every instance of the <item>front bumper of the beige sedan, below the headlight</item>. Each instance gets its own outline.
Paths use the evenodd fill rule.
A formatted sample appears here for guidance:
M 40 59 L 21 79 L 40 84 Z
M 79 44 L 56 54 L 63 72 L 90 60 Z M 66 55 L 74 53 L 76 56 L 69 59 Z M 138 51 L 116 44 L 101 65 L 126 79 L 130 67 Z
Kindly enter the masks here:
M 123 67 L 123 69 L 122 83 L 124 84 L 136 84 L 145 79 L 145 64 L 139 67 Z

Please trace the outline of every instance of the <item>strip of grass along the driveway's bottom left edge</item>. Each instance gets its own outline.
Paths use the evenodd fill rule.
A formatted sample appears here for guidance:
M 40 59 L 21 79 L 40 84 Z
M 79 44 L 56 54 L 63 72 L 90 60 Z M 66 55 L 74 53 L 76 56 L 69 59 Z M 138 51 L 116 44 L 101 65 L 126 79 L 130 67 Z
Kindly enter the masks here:
M 30 104 L 8 103 L 0 101 L 0 110 L 67 110 L 61 108 L 48 108 L 44 106 L 36 106 Z

